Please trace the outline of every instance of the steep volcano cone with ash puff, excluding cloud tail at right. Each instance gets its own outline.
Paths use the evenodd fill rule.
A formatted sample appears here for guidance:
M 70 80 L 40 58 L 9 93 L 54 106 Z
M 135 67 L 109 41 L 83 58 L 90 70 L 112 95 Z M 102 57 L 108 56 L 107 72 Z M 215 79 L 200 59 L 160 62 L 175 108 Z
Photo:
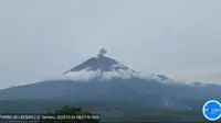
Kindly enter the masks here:
M 86 77 L 88 74 L 93 76 L 92 78 L 137 78 L 137 71 L 113 58 L 106 57 L 106 53 L 105 48 L 99 49 L 96 57 L 85 60 L 63 75 L 74 75 L 75 78 L 77 78 L 75 75 Z

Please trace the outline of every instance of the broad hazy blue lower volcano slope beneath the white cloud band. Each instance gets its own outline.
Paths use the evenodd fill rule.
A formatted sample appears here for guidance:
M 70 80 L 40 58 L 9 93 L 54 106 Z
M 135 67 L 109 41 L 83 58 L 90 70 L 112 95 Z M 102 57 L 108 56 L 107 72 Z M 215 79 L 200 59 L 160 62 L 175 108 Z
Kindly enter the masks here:
M 194 109 L 209 99 L 220 100 L 219 87 L 191 87 L 156 80 L 115 79 L 43 81 L 2 90 L 1 100 L 61 100 L 73 102 L 139 102 L 151 108 Z M 154 105 L 152 105 L 154 104 Z M 157 104 L 157 105 L 155 105 Z M 199 107 L 198 107 L 199 108 Z

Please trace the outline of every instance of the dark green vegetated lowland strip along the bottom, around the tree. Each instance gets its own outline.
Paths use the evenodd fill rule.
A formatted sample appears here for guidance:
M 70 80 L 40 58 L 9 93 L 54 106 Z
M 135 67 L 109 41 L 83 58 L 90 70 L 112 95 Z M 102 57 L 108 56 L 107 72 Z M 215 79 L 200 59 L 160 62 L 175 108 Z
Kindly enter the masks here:
M 69 114 L 92 114 L 83 110 L 94 111 L 101 114 L 98 120 L 72 120 L 72 122 L 53 120 L 42 120 L 42 123 L 101 123 L 101 122 L 208 122 L 204 119 L 201 108 L 194 110 L 172 110 L 146 107 L 145 103 L 129 102 L 60 102 L 60 101 L 0 101 L 0 113 L 43 113 L 49 115 L 69 115 Z M 66 105 L 63 107 L 62 105 Z M 74 105 L 74 107 L 71 107 Z M 75 107 L 83 108 L 78 109 Z M 220 119 L 221 120 L 221 119 Z

